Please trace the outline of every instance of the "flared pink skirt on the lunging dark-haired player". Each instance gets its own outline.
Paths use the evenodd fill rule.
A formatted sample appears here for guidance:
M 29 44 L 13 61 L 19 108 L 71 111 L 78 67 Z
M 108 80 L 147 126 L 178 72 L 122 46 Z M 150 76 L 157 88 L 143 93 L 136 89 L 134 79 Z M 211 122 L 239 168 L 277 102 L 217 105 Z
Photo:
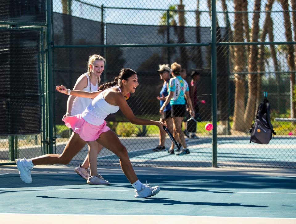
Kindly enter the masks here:
M 101 133 L 110 130 L 110 128 L 106 126 L 105 120 L 101 125 L 93 125 L 85 121 L 81 117 L 81 114 L 65 117 L 62 119 L 62 121 L 65 122 L 65 125 L 68 128 L 72 128 L 73 132 L 79 134 L 81 139 L 87 142 L 97 140 Z

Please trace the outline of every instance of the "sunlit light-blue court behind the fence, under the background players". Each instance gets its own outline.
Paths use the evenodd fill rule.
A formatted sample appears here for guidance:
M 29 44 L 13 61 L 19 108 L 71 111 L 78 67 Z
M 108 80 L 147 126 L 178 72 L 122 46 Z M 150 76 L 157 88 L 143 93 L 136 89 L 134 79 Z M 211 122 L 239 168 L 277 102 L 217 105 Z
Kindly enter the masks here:
M 199 139 L 186 138 L 189 155 L 170 155 L 167 151 L 153 152 L 151 145 L 157 146 L 158 137 L 155 138 L 129 138 L 124 145 L 129 150 L 130 160 L 140 166 L 186 166 L 211 167 L 212 166 L 212 139 L 200 137 Z M 121 140 L 124 141 L 124 140 Z M 170 146 L 169 138 L 166 146 Z M 296 167 L 296 138 L 276 136 L 269 144 L 249 143 L 249 137 L 218 137 L 217 165 L 218 167 Z M 87 154 L 87 149 L 84 155 Z M 60 151 L 59 153 L 61 153 Z M 100 153 L 98 163 L 118 166 L 118 158 L 106 150 L 107 155 Z M 82 157 L 82 156 L 81 156 Z

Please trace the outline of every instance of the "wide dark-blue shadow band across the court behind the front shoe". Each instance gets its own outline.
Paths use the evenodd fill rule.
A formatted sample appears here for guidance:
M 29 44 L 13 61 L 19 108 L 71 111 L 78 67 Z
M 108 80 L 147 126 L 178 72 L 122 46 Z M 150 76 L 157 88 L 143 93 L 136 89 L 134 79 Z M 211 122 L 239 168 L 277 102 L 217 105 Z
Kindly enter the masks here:
M 104 178 L 111 183 L 109 186 L 88 185 L 86 180 L 76 174 L 32 174 L 33 183 L 26 184 L 19 178 L 19 174 L 11 173 L 0 176 L 0 188 L 79 185 L 79 188 L 85 186 L 87 189 L 98 187 L 104 187 L 104 189 L 112 187 L 133 189 L 124 175 L 104 175 Z M 211 191 L 215 193 L 215 191 L 223 190 L 224 192 L 227 189 L 295 189 L 296 186 L 295 177 L 281 176 L 219 176 L 219 173 L 218 175 L 187 176 L 174 175 L 174 172 L 172 172 L 172 175 L 138 175 L 138 178 L 142 183 L 147 181 L 152 186 L 159 185 L 162 190 L 167 191 Z

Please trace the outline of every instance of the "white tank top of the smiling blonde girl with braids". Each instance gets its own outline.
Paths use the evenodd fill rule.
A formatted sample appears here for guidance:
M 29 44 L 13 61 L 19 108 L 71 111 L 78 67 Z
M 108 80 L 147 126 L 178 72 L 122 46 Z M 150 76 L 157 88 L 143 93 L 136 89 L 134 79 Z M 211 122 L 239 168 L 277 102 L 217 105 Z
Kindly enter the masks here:
M 96 85 L 93 85 L 89 81 L 88 74 L 84 73 L 83 75 L 85 75 L 87 77 L 87 87 L 84 88 L 83 91 L 86 91 L 86 92 L 97 91 L 98 90 L 98 81 L 97 81 Z M 90 99 L 90 98 L 76 96 L 76 98 L 74 99 L 73 104 L 72 104 L 71 115 L 81 114 L 91 102 L 92 102 L 92 99 Z

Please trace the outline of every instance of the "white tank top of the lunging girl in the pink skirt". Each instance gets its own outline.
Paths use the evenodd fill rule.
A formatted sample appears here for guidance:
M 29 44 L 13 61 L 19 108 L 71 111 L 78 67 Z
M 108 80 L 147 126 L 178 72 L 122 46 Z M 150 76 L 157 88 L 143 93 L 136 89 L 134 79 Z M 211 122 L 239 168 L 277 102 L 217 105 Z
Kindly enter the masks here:
M 116 87 L 121 92 L 119 86 Z M 92 100 L 92 103 L 89 104 L 88 107 L 81 113 L 81 117 L 89 124 L 101 125 L 104 123 L 105 118 L 109 114 L 116 113 L 119 110 L 118 106 L 114 106 L 106 102 L 103 96 L 104 91 L 100 92 L 100 94 Z

